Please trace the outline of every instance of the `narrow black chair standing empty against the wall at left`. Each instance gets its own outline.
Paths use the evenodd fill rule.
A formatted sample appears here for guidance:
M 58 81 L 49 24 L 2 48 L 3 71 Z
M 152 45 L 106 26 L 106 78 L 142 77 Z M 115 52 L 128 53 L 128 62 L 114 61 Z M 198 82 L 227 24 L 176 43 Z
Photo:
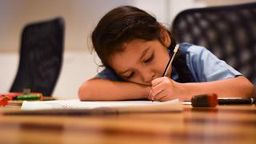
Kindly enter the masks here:
M 18 73 L 10 92 L 40 92 L 51 96 L 62 68 L 64 20 L 30 23 L 22 30 Z

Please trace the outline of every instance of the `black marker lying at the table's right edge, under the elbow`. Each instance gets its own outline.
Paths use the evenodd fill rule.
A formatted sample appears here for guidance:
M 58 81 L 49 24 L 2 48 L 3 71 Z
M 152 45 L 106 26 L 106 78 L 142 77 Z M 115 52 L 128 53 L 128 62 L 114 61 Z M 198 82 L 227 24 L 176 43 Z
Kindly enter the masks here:
M 254 98 L 218 98 L 219 105 L 241 105 L 254 103 Z

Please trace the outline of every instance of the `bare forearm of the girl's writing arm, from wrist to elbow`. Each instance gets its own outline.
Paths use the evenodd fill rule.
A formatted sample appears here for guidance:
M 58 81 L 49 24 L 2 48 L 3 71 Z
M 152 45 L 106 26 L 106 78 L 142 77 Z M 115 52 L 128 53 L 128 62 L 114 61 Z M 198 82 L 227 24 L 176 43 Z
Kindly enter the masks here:
M 218 94 L 218 97 L 250 98 L 254 94 L 254 85 L 245 77 L 227 78 L 214 82 L 185 83 L 185 100 L 197 94 Z

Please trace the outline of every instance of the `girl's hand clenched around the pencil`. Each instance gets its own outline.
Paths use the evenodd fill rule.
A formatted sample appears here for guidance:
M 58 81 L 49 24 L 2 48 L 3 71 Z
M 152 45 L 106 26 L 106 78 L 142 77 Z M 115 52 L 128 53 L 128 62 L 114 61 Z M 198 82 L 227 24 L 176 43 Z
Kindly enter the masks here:
M 181 83 L 174 82 L 174 80 L 167 77 L 161 77 L 155 78 L 152 81 L 148 99 L 161 102 L 172 100 L 174 98 L 182 100 L 183 94 L 184 90 Z

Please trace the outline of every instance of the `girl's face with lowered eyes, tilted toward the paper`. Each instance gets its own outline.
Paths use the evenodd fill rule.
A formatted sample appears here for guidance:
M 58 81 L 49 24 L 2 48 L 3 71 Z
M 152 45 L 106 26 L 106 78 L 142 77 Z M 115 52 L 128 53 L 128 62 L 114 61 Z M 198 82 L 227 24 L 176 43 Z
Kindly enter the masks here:
M 124 51 L 111 57 L 111 66 L 121 78 L 150 86 L 154 78 L 162 77 L 170 59 L 167 46 L 162 42 L 158 39 L 152 41 L 134 39 L 123 46 Z

